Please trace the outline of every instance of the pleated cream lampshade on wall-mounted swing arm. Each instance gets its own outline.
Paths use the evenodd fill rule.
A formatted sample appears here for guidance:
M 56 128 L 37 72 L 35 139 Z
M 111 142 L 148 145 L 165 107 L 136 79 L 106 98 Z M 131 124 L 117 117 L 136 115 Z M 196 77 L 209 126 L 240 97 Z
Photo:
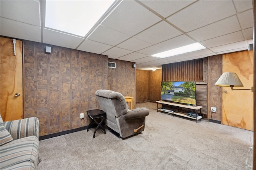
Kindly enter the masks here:
M 235 72 L 224 72 L 215 83 L 216 86 L 244 87 Z

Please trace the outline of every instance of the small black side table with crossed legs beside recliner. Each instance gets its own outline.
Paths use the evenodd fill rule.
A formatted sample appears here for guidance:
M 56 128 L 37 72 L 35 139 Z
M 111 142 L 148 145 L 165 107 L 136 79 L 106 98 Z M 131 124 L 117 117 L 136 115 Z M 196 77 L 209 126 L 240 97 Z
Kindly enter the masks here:
M 87 115 L 88 117 L 90 118 L 90 124 L 88 125 L 87 127 L 87 131 L 90 127 L 90 125 L 92 124 L 92 122 L 95 122 L 98 126 L 96 127 L 95 131 L 94 131 L 94 134 L 93 134 L 93 138 L 95 138 L 95 133 L 96 131 L 100 128 L 102 129 L 102 131 L 104 132 L 104 134 L 106 134 L 106 130 L 105 128 L 102 126 L 102 123 L 106 117 L 106 112 L 105 111 L 102 111 L 100 109 L 94 109 L 94 110 L 88 110 L 86 111 L 87 112 Z M 97 118 L 102 118 L 100 123 L 98 123 L 98 121 L 96 120 Z

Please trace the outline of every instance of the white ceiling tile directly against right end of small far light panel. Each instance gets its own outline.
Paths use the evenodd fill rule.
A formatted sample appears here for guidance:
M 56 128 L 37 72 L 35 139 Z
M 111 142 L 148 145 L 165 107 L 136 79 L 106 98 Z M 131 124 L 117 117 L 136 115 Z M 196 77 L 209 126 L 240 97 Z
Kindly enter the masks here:
M 226 44 L 230 44 L 230 43 L 238 42 L 238 41 L 243 41 L 243 40 L 244 40 L 244 37 L 242 35 L 242 32 L 237 31 L 235 33 L 230 33 L 230 34 L 227 34 L 227 35 L 223 35 L 223 36 L 220 36 L 220 37 L 216 37 L 216 38 L 213 38 L 213 39 L 202 41 L 200 43 L 202 45 L 204 45 L 204 47 L 211 48 L 211 47 L 217 47 L 217 46 L 220 46 L 220 45 L 226 45 Z

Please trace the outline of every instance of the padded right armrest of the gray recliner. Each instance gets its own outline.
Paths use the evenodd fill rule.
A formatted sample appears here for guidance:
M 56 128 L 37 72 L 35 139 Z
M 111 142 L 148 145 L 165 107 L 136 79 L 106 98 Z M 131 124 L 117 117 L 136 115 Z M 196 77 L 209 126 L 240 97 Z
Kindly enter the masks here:
M 146 117 L 149 114 L 149 110 L 146 107 L 140 107 L 128 112 L 124 115 L 124 119 L 138 119 L 141 117 Z

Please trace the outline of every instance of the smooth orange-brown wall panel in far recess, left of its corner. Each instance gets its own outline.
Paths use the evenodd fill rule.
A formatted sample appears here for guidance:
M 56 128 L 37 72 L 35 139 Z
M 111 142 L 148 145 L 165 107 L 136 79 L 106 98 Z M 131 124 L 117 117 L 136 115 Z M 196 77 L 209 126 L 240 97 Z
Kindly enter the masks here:
M 136 102 L 148 102 L 148 70 L 136 70 Z

